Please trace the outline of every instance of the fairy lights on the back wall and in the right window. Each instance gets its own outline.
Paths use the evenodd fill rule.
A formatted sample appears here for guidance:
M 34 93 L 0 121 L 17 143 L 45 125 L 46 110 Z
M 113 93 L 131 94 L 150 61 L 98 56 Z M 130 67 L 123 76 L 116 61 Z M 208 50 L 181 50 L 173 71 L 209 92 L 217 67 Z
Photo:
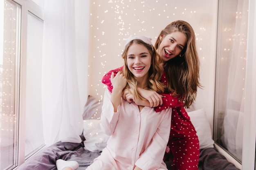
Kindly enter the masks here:
M 209 60 L 209 37 L 215 28 L 212 16 L 212 5 L 208 2 L 178 1 L 138 1 L 109 0 L 106 2 L 93 0 L 90 6 L 90 41 L 89 53 L 89 92 L 102 100 L 106 86 L 101 83 L 103 75 L 122 65 L 121 53 L 126 38 L 130 35 L 148 35 L 153 44 L 159 32 L 174 20 L 188 21 L 196 36 L 197 49 L 201 62 Z M 198 8 L 198 4 L 200 7 Z M 234 16 L 240 18 L 241 12 Z M 200 21 L 200 22 L 199 22 Z M 214 24 L 214 25 L 213 25 Z M 231 25 L 231 24 L 229 24 Z M 228 25 L 227 25 L 228 26 Z M 232 41 L 235 40 L 234 28 L 226 27 L 227 33 L 224 51 L 231 52 Z M 246 37 L 246 34 L 243 35 Z M 215 38 L 215 37 L 213 37 Z M 231 46 L 229 45 L 231 44 Z M 228 55 L 223 60 L 229 60 Z M 203 73 L 204 74 L 204 73 Z

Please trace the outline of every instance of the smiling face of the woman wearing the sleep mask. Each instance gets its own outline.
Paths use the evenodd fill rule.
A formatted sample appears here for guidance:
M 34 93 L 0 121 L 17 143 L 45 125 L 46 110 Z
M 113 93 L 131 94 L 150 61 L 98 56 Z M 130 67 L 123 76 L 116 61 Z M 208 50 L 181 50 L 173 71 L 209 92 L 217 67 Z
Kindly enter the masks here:
M 146 80 L 151 66 L 151 55 L 141 44 L 131 44 L 126 53 L 127 66 L 134 78 Z

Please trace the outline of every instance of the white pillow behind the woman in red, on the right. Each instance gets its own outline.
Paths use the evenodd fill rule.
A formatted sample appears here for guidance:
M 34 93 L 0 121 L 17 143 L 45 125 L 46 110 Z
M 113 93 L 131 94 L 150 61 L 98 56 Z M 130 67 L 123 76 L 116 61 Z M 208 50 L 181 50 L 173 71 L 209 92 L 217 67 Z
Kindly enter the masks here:
M 197 132 L 200 149 L 213 148 L 214 141 L 211 135 L 211 126 L 204 109 L 188 112 L 188 115 Z

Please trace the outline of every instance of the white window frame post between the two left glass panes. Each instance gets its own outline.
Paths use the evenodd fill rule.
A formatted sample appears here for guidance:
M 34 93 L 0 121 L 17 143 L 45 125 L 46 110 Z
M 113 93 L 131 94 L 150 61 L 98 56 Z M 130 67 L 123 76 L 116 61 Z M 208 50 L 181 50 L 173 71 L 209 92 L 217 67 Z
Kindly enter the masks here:
M 44 20 L 44 10 L 39 7 L 32 0 L 12 0 L 21 6 L 21 23 L 20 23 L 20 65 L 18 70 L 20 70 L 20 77 L 18 82 L 19 91 L 19 101 L 17 103 L 17 141 L 18 150 L 16 150 L 16 168 L 25 162 L 25 119 L 26 119 L 26 75 L 27 75 L 27 18 L 28 14 L 32 13 L 36 17 Z

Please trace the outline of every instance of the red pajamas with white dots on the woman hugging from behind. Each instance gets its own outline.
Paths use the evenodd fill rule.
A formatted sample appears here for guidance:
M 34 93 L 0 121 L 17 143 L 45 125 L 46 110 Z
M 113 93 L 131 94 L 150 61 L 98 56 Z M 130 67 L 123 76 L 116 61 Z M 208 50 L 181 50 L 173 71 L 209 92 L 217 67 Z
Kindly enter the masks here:
M 110 75 L 115 75 L 122 70 L 123 67 L 109 71 L 102 78 L 102 83 L 106 84 L 108 90 L 112 92 L 112 84 Z M 161 82 L 167 84 L 166 73 L 163 73 Z M 183 107 L 183 101 L 173 97 L 172 93 L 161 94 L 163 98 L 163 106 L 158 106 L 155 111 L 158 113 L 166 108 L 173 108 L 171 115 L 171 129 L 166 133 L 170 133 L 168 147 L 170 151 L 165 154 L 164 161 L 171 161 L 172 170 L 198 170 L 199 162 L 199 140 L 196 135 L 195 128 L 191 123 L 190 117 Z

